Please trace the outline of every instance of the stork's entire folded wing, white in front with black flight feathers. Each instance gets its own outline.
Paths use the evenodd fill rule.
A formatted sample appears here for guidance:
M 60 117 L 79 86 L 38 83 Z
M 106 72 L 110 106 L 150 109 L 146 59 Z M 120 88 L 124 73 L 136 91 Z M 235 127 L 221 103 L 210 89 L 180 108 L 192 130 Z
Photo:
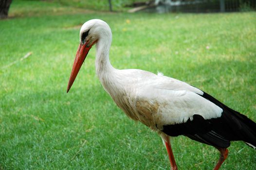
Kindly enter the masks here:
M 158 80 L 158 82 L 156 82 Z M 253 136 L 252 120 L 225 106 L 200 89 L 164 76 L 157 76 L 137 90 L 137 100 L 159 105 L 157 128 L 169 136 L 188 136 L 193 140 L 227 148 L 231 140 Z M 250 142 L 249 142 L 250 143 Z

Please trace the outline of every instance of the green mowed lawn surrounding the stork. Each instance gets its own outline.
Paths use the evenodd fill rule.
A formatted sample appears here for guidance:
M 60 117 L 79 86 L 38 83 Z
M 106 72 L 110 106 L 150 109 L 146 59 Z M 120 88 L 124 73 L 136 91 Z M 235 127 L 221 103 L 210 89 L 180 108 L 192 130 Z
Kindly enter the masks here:
M 110 61 L 185 81 L 256 121 L 256 13 L 128 14 L 15 0 L 0 20 L 0 170 L 169 170 L 161 138 L 115 105 L 92 48 L 66 93 L 81 25 L 109 23 Z M 32 52 L 25 59 L 21 59 Z M 13 63 L 14 62 L 14 63 Z M 219 152 L 172 139 L 180 170 L 210 170 Z M 255 170 L 233 142 L 221 170 Z

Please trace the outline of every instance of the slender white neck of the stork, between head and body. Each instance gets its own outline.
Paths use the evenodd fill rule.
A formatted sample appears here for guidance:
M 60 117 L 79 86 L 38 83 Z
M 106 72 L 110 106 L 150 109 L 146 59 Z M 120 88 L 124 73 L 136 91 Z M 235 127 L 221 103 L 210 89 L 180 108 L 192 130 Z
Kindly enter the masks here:
M 111 72 L 115 70 L 115 68 L 110 64 L 110 45 L 111 33 L 109 36 L 100 38 L 96 44 L 95 68 L 100 81 L 108 77 L 107 74 L 110 75 Z

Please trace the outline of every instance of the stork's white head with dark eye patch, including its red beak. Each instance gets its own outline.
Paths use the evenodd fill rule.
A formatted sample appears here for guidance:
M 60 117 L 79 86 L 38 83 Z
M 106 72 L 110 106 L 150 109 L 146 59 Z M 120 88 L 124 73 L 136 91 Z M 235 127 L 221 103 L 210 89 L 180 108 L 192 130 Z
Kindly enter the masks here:
M 83 24 L 80 30 L 80 44 L 74 59 L 73 68 L 69 78 L 67 92 L 69 92 L 88 52 L 98 40 L 111 34 L 109 25 L 100 19 L 91 19 Z M 111 40 L 110 40 L 111 41 Z

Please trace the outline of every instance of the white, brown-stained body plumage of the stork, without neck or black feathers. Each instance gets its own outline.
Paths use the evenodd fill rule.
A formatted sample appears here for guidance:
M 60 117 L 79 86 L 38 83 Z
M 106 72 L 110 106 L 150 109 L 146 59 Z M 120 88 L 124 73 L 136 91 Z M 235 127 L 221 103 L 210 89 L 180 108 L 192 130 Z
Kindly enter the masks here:
M 204 119 L 221 116 L 219 106 L 198 95 L 203 94 L 201 90 L 173 78 L 138 69 L 113 69 L 111 74 L 100 80 L 130 118 L 140 120 L 154 130 L 157 130 L 156 124 L 162 130 L 165 124 L 186 122 L 195 114 Z M 149 110 L 150 115 L 143 115 L 149 108 L 156 110 Z M 149 116 L 154 119 L 150 122 L 145 120 L 145 123 L 145 116 L 146 119 Z

